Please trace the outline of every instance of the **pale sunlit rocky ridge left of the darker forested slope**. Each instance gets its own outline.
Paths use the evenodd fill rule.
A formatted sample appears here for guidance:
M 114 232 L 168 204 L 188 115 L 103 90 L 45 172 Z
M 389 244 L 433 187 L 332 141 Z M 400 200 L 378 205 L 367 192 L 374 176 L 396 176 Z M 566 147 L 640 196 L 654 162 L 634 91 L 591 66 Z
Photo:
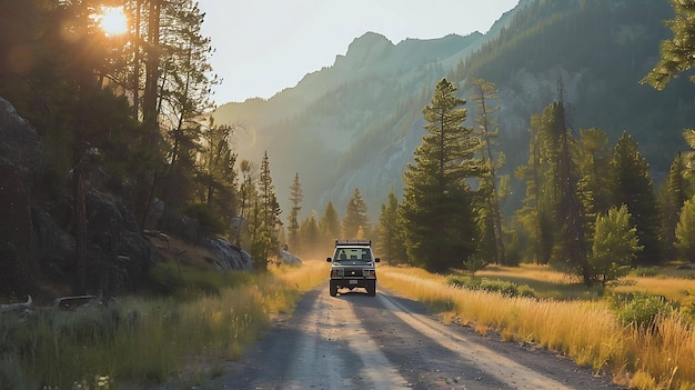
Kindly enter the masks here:
M 296 87 L 269 100 L 256 98 L 218 108 L 215 123 L 240 127 L 236 133 L 240 158 L 258 163 L 268 151 L 284 209 L 288 209 L 284 204 L 290 186 L 288 174 L 293 177 L 295 171 L 305 193 L 304 203 L 319 212 L 329 200 L 342 211 L 346 196 L 357 187 L 366 198 L 381 201 L 391 187 L 401 188 L 404 161 L 412 158 L 422 137 L 420 122 L 409 123 L 410 120 L 402 118 L 403 109 L 412 104 L 412 91 L 420 91 L 416 101 L 425 102 L 430 87 L 462 58 L 496 37 L 510 17 L 511 13 L 503 16 L 487 34 L 406 39 L 396 44 L 382 34 L 366 32 L 350 44 L 344 56 L 336 56 L 332 67 L 308 73 Z M 316 112 L 322 114 L 315 116 Z M 389 138 L 384 149 L 369 156 L 361 153 L 357 146 L 371 142 L 362 138 L 374 126 L 385 123 L 399 126 L 384 134 Z M 404 127 L 407 131 L 403 131 Z M 291 158 L 296 150 L 302 150 L 301 158 Z M 380 169 L 351 171 L 349 177 L 338 179 L 345 163 L 350 166 L 355 158 L 370 160 Z M 370 186 L 364 186 L 365 182 Z M 379 210 L 374 201 L 369 206 L 372 213 Z

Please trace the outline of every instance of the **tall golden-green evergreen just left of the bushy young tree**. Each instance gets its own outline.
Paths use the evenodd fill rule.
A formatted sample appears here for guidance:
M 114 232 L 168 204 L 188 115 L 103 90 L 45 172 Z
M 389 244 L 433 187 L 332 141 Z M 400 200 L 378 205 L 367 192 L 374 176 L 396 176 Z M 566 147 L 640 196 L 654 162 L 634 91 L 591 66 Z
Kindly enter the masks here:
M 553 102 L 532 118 L 528 164 L 516 174 L 526 181 L 524 208 L 517 212 L 535 242 L 538 262 L 576 274 L 591 284 L 586 259 L 586 218 L 580 193 L 576 141 L 565 124 L 564 104 Z

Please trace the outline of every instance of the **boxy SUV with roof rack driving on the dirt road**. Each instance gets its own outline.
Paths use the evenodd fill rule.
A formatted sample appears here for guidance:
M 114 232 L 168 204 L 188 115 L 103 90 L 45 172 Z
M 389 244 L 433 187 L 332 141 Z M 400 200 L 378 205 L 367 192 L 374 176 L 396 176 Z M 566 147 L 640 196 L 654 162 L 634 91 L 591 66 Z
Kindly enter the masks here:
M 376 294 L 376 270 L 379 258 L 372 254 L 371 240 L 335 240 L 335 252 L 326 259 L 331 264 L 331 297 L 338 289 L 364 288 L 366 294 Z

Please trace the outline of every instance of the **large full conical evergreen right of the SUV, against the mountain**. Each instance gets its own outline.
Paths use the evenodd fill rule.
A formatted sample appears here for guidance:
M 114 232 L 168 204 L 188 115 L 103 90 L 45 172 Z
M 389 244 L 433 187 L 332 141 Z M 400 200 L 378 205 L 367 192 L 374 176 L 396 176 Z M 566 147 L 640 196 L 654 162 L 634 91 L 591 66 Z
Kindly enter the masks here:
M 477 239 L 467 180 L 484 170 L 476 158 L 482 142 L 463 126 L 466 110 L 459 107 L 465 100 L 455 91 L 446 79 L 437 82 L 423 109 L 427 133 L 403 176 L 404 244 L 411 262 L 430 271 L 462 267 Z

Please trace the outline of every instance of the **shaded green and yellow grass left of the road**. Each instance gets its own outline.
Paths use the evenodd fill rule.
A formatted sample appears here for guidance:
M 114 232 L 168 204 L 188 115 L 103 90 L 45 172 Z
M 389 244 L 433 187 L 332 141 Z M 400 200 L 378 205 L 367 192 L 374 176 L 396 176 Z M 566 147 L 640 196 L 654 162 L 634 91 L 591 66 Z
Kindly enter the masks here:
M 324 271 L 219 273 L 184 264 L 179 273 L 164 264 L 152 272 L 149 298 L 2 316 L 0 388 L 143 388 L 219 376 L 208 361 L 239 358 L 273 316 L 291 313 L 302 291 L 325 281 Z

